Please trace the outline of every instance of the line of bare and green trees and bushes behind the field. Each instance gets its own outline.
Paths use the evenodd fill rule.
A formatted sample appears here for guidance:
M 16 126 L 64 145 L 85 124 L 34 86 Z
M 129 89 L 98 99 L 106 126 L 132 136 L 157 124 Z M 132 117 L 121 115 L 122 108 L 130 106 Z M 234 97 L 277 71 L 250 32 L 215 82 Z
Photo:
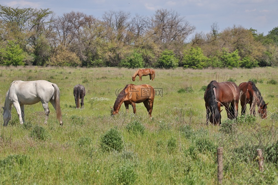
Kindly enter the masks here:
M 278 65 L 278 27 L 266 36 L 233 25 L 209 33 L 174 10 L 152 16 L 109 11 L 56 16 L 50 9 L 0 5 L 0 65 L 128 68 L 253 68 Z

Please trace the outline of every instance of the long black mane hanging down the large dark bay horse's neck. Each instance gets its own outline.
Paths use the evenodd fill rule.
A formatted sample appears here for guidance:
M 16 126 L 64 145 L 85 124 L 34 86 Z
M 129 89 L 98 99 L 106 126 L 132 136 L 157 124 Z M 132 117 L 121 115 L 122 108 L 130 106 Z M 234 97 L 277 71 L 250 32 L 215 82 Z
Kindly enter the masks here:
M 207 99 L 209 100 L 209 111 L 210 113 L 212 114 L 212 117 L 213 119 L 216 120 L 216 122 L 218 122 L 220 120 L 220 113 L 218 111 L 218 104 L 217 104 L 217 101 L 216 101 L 216 96 L 215 96 L 215 93 L 214 93 L 214 90 L 213 88 L 216 88 L 214 85 L 213 85 L 213 82 L 216 82 L 216 81 L 211 81 L 209 83 L 209 85 L 207 86 Z

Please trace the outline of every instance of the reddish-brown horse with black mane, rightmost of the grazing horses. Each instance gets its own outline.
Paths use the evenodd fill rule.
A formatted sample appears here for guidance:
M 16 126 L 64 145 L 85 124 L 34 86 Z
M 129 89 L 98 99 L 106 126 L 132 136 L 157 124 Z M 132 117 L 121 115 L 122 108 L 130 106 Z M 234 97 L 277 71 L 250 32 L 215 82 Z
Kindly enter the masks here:
M 266 118 L 266 109 L 268 103 L 264 102 L 263 97 L 261 96 L 261 92 L 255 86 L 255 83 L 252 81 L 242 82 L 239 84 L 239 90 L 242 91 L 242 95 L 240 97 L 241 104 L 241 115 L 245 114 L 246 105 L 249 103 L 250 105 L 250 114 L 255 116 L 255 105 L 258 106 L 258 113 L 260 114 L 262 119 Z

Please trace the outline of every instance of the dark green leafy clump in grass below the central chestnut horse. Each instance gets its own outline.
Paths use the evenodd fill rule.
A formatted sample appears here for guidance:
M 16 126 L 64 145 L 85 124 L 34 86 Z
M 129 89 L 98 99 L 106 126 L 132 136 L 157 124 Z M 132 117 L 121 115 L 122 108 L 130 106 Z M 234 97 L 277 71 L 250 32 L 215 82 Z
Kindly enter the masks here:
M 123 140 L 117 128 L 111 128 L 100 136 L 100 148 L 103 152 L 121 151 Z

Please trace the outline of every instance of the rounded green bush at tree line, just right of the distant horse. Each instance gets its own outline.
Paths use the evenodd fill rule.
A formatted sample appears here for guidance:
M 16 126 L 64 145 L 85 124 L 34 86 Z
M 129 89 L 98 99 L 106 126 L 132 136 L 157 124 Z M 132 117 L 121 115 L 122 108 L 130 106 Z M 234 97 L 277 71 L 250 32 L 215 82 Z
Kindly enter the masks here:
M 175 57 L 173 50 L 165 49 L 158 58 L 156 66 L 165 69 L 176 68 L 178 62 L 179 60 Z

